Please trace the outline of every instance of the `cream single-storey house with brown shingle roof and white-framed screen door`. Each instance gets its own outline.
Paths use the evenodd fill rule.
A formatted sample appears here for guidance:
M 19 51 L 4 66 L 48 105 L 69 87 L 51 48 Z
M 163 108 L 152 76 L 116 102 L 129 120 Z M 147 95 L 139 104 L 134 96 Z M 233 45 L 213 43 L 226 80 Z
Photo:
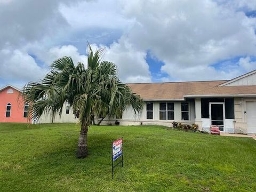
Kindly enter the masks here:
M 230 81 L 129 84 L 145 101 L 142 113 L 135 116 L 131 108 L 119 121 L 121 125 L 158 124 L 172 122 L 199 125 L 209 131 L 218 125 L 222 132 L 256 133 L 256 70 Z

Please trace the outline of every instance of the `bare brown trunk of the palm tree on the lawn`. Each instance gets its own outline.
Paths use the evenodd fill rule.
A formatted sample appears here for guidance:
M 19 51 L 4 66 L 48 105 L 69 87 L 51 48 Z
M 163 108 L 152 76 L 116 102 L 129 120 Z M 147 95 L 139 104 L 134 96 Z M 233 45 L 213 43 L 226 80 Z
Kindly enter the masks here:
M 76 151 L 77 158 L 84 158 L 88 155 L 87 132 L 88 132 L 88 125 L 86 123 L 85 124 L 82 123 L 80 136 L 77 144 L 77 151 Z

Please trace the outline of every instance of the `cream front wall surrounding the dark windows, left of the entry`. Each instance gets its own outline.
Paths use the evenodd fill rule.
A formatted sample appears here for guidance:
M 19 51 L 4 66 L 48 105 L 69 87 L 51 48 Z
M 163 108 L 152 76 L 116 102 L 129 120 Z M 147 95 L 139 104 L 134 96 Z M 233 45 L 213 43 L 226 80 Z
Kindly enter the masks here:
M 137 116 L 134 114 L 132 107 L 129 107 L 123 112 L 122 119 L 115 118 L 108 121 L 108 117 L 106 117 L 101 122 L 101 125 L 107 125 L 108 123 L 111 123 L 114 125 L 116 120 L 120 122 L 120 125 L 140 125 L 141 122 L 143 125 L 164 125 L 164 126 L 172 126 L 173 122 L 193 124 L 195 123 L 194 102 L 190 102 L 190 101 L 185 101 L 185 102 L 189 103 L 189 120 L 188 121 L 181 120 L 181 102 L 174 102 L 174 120 L 159 119 L 159 103 L 160 102 L 153 102 L 153 119 L 147 119 L 146 102 L 145 102 L 141 113 L 137 114 Z

